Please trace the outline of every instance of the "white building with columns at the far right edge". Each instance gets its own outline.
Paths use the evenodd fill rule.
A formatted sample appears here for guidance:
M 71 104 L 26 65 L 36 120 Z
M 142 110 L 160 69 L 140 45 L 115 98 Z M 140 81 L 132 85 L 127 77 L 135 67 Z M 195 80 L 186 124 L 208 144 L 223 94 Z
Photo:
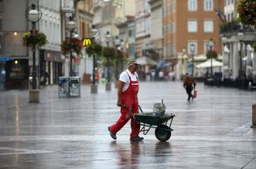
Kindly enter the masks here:
M 224 79 L 252 82 L 256 79 L 256 59 L 252 49 L 256 28 L 236 21 L 236 5 L 237 0 L 225 0 L 224 15 L 227 22 L 220 29 L 224 46 Z

